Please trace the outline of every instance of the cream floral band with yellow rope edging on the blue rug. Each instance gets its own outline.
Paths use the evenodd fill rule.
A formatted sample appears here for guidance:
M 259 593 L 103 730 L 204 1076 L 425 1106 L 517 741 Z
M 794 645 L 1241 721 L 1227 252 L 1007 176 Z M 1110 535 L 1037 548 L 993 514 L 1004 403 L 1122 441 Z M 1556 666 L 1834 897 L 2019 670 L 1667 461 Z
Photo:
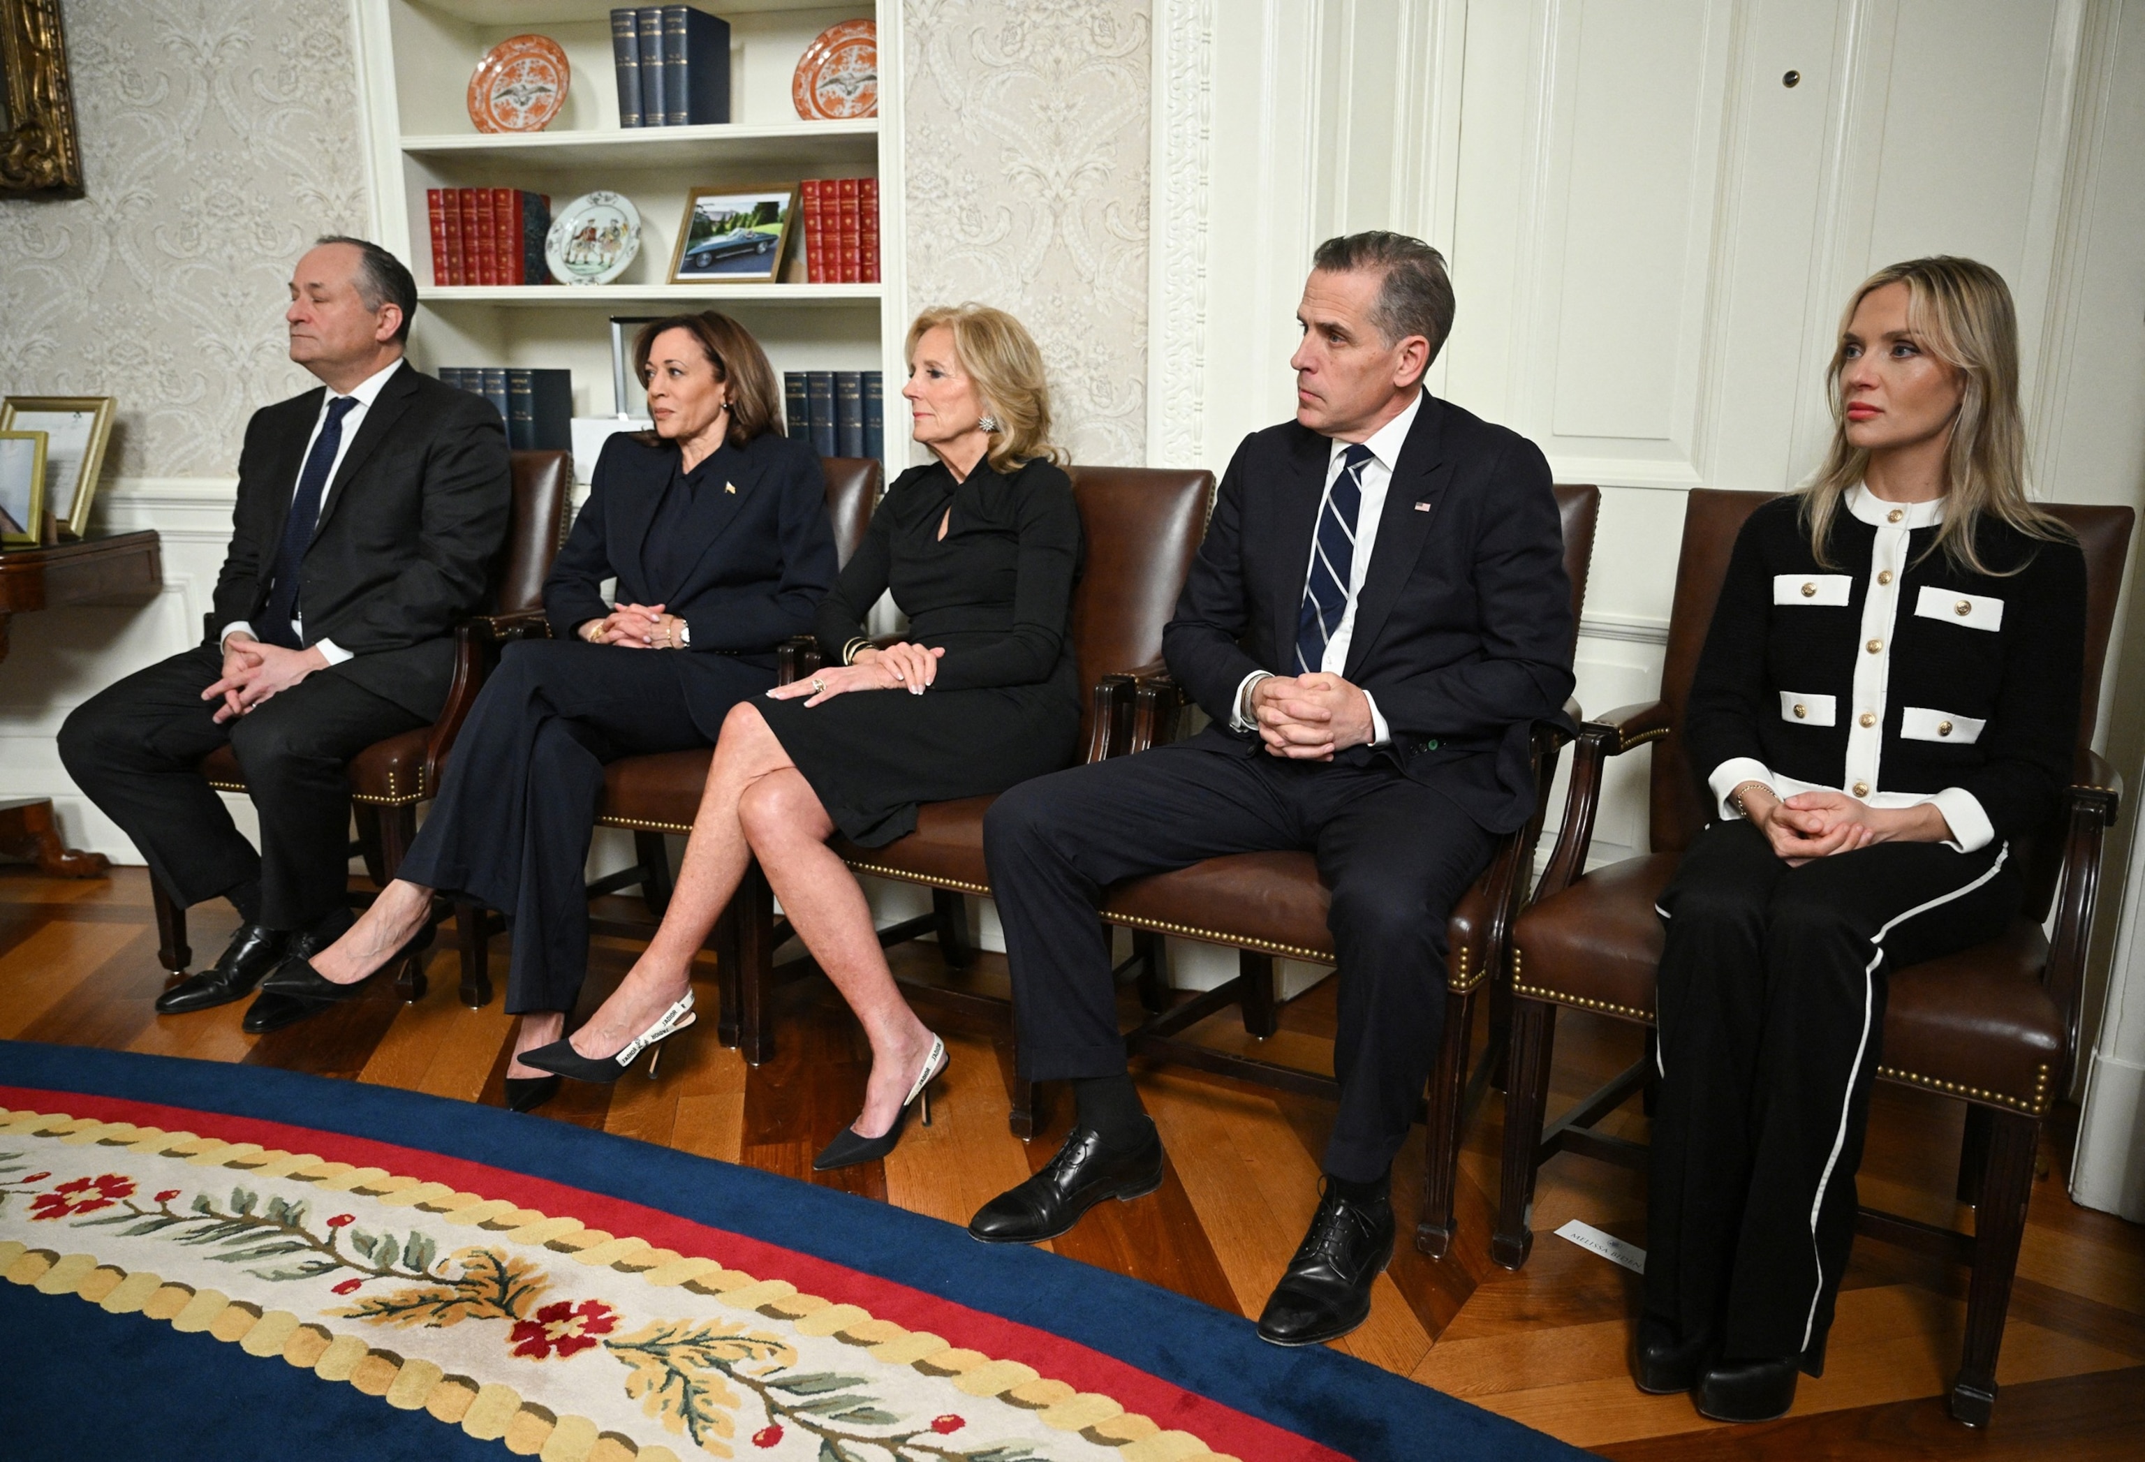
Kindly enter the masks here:
M 714 1256 L 380 1168 L 129 1123 L 0 1110 L 0 1273 L 41 1286 L 73 1275 L 105 1308 L 180 1329 L 191 1316 L 227 1340 L 296 1316 L 275 1325 L 292 1363 L 341 1346 L 350 1374 L 332 1378 L 367 1385 L 358 1372 L 384 1357 L 393 1374 L 367 1372 L 382 1391 L 431 1383 L 427 1408 L 472 1434 L 468 1417 L 493 1426 L 511 1396 L 523 1441 L 556 1417 L 562 1441 L 624 1441 L 650 1462 L 1214 1458 L 1109 1398 Z M 446 1415 L 457 1406 L 465 1417 Z M 498 1434 L 515 1447 L 511 1430 Z

